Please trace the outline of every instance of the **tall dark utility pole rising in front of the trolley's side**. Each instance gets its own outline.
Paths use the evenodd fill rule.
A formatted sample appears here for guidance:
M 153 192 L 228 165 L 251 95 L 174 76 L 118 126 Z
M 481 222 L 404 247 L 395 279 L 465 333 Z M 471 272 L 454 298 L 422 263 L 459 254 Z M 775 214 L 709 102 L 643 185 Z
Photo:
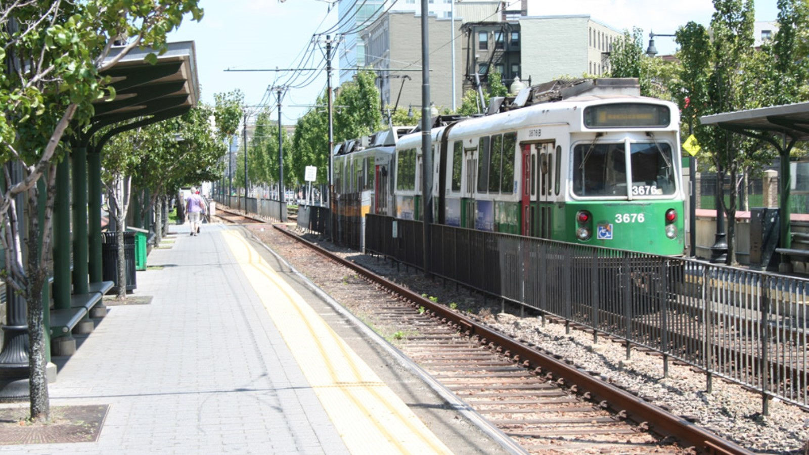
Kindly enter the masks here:
M 430 140 L 430 46 L 427 0 L 421 0 L 421 219 L 423 231 L 424 274 L 430 276 L 430 228 L 433 224 L 433 147 Z M 453 18 L 454 20 L 454 18 Z

